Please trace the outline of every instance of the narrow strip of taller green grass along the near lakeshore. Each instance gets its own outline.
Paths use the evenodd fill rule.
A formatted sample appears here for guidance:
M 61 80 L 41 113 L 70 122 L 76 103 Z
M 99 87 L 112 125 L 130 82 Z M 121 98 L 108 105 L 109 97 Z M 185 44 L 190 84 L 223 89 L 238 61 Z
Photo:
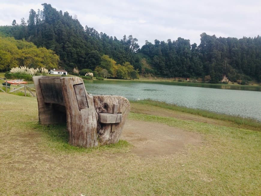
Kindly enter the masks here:
M 175 111 L 195 114 L 195 115 L 199 115 L 199 116 L 203 116 L 203 117 L 207 117 L 207 118 L 211 118 L 211 119 L 233 122 L 233 123 L 236 123 L 238 125 L 246 125 L 246 126 L 249 126 L 249 127 L 261 129 L 261 123 L 260 122 L 257 122 L 257 121 L 252 120 L 252 119 L 241 118 L 241 117 L 238 117 L 238 116 L 229 116 L 229 115 L 225 115 L 225 114 L 217 114 L 217 113 L 208 112 L 208 111 L 205 111 L 205 110 L 181 107 L 181 106 L 177 106 L 177 105 L 173 105 L 173 104 L 167 104 L 167 103 L 161 102 L 161 101 L 153 101 L 153 100 L 149 100 L 149 99 L 138 100 L 138 101 L 133 101 L 133 102 L 157 106 L 157 107 L 166 108 L 166 109 L 169 109 L 169 110 L 175 110 Z

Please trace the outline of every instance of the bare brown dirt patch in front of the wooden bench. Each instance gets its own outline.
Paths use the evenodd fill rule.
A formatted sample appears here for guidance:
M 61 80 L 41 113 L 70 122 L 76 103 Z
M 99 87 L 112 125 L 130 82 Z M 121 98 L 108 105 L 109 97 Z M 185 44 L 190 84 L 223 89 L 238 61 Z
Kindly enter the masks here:
M 185 150 L 186 145 L 201 145 L 202 142 L 197 133 L 135 120 L 127 120 L 121 139 L 134 145 L 131 152 L 141 157 L 171 155 Z

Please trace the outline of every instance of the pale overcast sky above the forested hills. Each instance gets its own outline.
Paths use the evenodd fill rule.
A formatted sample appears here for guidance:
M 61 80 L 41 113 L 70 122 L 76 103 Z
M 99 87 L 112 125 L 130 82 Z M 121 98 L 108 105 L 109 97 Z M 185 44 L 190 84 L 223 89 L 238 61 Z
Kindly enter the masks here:
M 133 35 L 140 46 L 145 40 L 167 41 L 178 37 L 200 43 L 200 34 L 242 38 L 261 35 L 260 0 L 86 0 L 27 1 L 0 0 L 0 25 L 29 17 L 30 9 L 51 4 L 57 11 L 77 15 L 83 27 L 122 39 Z

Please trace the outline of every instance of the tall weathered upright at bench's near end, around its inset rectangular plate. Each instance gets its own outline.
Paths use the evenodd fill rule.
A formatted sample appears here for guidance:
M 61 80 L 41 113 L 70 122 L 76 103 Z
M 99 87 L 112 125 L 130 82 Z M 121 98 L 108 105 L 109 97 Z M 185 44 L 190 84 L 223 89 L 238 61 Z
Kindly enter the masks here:
M 88 107 L 79 110 L 73 85 L 83 84 L 82 79 L 79 77 L 62 77 L 61 83 L 67 115 L 69 143 L 73 146 L 97 146 L 98 113 L 95 111 L 93 98 L 84 89 Z

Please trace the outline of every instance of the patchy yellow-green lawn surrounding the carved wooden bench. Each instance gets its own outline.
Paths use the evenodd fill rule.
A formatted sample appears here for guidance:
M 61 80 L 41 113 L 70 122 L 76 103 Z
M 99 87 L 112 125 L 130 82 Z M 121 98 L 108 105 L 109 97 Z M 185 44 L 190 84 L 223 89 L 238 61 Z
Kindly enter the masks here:
M 140 157 L 124 140 L 93 149 L 70 146 L 65 125 L 38 124 L 35 98 L 0 93 L 0 106 L 1 195 L 261 194 L 260 126 L 131 103 L 133 122 L 202 137 L 200 145 L 170 155 Z

